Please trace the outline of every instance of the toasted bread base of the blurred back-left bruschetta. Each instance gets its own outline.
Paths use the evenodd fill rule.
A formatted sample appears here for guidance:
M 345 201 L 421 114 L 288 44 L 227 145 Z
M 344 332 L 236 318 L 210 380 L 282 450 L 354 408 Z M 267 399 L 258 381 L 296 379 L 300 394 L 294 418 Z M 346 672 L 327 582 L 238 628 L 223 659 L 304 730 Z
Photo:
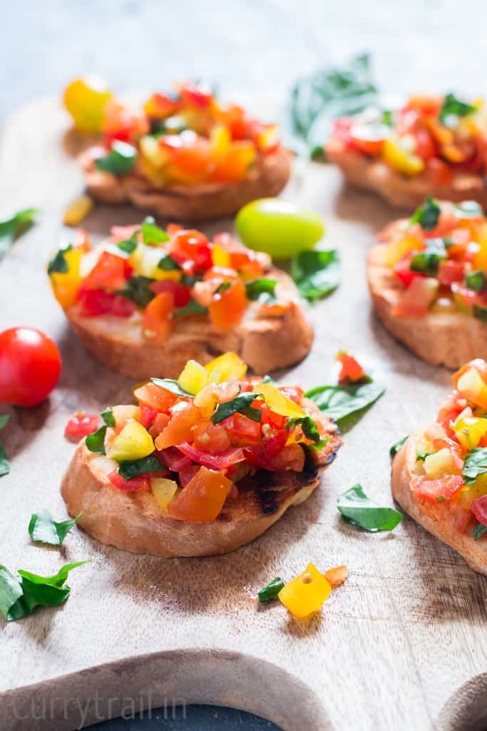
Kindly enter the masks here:
M 291 175 L 291 153 L 280 145 L 275 152 L 258 156 L 255 167 L 238 183 L 202 183 L 193 186 L 154 188 L 136 175 L 117 177 L 97 170 L 90 151 L 80 155 L 88 192 L 106 203 L 130 202 L 137 208 L 176 221 L 207 221 L 232 216 L 242 205 L 275 196 Z

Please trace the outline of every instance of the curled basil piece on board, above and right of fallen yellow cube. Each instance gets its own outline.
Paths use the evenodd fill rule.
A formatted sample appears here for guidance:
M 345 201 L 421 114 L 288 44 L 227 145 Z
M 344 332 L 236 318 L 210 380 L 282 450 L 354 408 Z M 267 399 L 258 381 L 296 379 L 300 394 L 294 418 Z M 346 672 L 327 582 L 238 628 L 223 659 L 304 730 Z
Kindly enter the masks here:
M 364 493 L 361 485 L 354 485 L 337 499 L 337 508 L 347 523 L 370 533 L 392 531 L 402 520 L 402 513 L 393 507 L 380 507 Z

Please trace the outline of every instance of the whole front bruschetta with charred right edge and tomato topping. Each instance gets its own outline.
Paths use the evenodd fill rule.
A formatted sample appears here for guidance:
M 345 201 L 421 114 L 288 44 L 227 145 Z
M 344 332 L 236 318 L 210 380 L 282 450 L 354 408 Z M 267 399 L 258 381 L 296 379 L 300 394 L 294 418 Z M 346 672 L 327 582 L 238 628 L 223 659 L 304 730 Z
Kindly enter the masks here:
M 261 535 L 307 499 L 342 444 L 300 387 L 246 376 L 234 353 L 152 379 L 77 447 L 61 486 L 78 525 L 108 545 L 208 556 Z

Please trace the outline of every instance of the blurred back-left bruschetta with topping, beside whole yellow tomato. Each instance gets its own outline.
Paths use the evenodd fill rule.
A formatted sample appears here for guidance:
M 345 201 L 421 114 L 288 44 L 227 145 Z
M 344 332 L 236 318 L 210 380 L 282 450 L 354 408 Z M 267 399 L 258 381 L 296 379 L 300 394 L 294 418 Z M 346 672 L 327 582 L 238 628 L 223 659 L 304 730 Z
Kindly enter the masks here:
M 277 126 L 189 83 L 135 109 L 107 99 L 101 127 L 101 143 L 80 155 L 88 192 L 173 220 L 231 216 L 277 195 L 291 172 Z

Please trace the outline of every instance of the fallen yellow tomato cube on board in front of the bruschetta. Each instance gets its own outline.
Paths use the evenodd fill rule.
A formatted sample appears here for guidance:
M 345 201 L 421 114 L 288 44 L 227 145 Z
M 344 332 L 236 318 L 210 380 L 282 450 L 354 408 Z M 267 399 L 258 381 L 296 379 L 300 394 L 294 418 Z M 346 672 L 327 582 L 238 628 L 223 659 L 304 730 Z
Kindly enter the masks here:
M 305 619 L 318 612 L 331 594 L 331 584 L 314 564 L 296 576 L 277 595 L 280 602 L 298 619 Z

